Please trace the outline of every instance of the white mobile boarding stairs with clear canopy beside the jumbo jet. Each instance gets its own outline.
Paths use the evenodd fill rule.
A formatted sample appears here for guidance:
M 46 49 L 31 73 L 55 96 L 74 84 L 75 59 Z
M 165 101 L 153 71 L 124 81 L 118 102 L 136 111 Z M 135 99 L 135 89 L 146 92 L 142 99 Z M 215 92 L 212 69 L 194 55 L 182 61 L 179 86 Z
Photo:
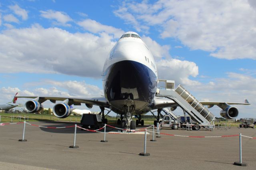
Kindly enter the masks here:
M 174 89 L 174 81 L 160 79 L 158 81 L 162 84 L 164 83 L 164 85 L 163 87 L 158 87 L 157 97 L 165 97 L 174 101 L 183 109 L 184 113 L 186 112 L 190 115 L 191 119 L 200 126 L 208 127 L 209 129 L 214 128 L 215 116 L 184 87 L 179 85 Z M 171 112 L 171 115 L 174 120 L 180 121 L 174 113 Z

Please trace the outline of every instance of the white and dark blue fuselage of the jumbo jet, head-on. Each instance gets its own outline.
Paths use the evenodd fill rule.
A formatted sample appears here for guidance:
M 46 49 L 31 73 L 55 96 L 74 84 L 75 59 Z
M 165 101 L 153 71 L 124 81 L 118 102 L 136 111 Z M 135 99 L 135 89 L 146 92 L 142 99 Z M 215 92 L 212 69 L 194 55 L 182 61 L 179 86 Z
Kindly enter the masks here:
M 112 111 L 124 113 L 127 100 L 135 108 L 132 113 L 144 114 L 157 90 L 157 69 L 154 57 L 140 36 L 126 32 L 112 48 L 103 68 L 104 95 Z

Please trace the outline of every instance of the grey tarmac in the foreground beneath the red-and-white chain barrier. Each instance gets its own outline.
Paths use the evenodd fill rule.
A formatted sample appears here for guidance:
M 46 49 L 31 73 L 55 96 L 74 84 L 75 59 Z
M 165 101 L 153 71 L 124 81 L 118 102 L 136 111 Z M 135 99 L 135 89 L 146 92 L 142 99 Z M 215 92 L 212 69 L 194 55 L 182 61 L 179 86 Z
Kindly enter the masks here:
M 29 122 L 31 123 L 31 122 Z M 66 127 L 74 123 L 33 122 L 50 127 Z M 256 139 L 242 137 L 242 161 L 248 166 L 233 165 L 239 161 L 239 139 L 234 137 L 189 138 L 161 134 L 151 142 L 147 135 L 146 152 L 144 134 L 106 134 L 77 129 L 76 145 L 74 127 L 40 128 L 26 125 L 22 139 L 23 124 L 0 126 L 0 169 L 255 169 Z M 146 126 L 145 126 L 146 127 Z M 113 130 L 107 128 L 107 131 Z M 169 130 L 161 133 L 185 136 L 222 136 L 239 134 L 256 137 L 256 129 L 230 128 L 213 131 Z

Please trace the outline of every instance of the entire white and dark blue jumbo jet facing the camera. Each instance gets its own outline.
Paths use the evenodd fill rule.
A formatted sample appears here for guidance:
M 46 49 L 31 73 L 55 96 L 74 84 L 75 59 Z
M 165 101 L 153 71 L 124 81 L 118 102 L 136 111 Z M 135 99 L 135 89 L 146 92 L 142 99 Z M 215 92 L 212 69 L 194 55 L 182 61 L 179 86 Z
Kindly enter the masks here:
M 71 114 L 70 105 L 85 105 L 90 109 L 93 105 L 100 107 L 102 118 L 104 119 L 105 108 L 120 114 L 119 124 L 122 127 L 132 129 L 139 123 L 142 115 L 151 110 L 158 109 L 158 121 L 161 109 L 165 107 L 177 107 L 177 104 L 170 99 L 156 97 L 158 73 L 154 57 L 147 45 L 135 32 L 126 32 L 118 40 L 106 58 L 103 67 L 103 89 L 105 97 L 84 98 L 84 97 L 45 97 L 45 96 L 20 96 L 32 98 L 25 103 L 28 112 L 36 113 L 43 109 L 42 103 L 50 100 L 57 103 L 53 107 L 53 113 L 58 118 L 65 118 Z M 249 103 L 232 103 L 244 104 Z M 221 107 L 223 116 L 234 119 L 238 116 L 238 109 L 230 107 L 224 102 L 204 102 L 204 105 Z M 108 113 L 109 113 L 108 111 Z M 137 115 L 138 120 L 132 120 L 132 116 Z M 104 119 L 107 123 L 107 120 Z

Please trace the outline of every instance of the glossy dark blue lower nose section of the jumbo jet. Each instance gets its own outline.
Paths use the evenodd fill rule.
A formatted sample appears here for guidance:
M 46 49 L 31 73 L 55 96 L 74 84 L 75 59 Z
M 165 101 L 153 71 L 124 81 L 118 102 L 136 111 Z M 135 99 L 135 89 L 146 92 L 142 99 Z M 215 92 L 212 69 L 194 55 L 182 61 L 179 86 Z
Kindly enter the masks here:
M 116 109 L 122 110 L 123 101 L 132 99 L 135 111 L 139 111 L 154 99 L 157 77 L 146 65 L 136 61 L 120 61 L 111 65 L 105 73 L 105 97 Z

